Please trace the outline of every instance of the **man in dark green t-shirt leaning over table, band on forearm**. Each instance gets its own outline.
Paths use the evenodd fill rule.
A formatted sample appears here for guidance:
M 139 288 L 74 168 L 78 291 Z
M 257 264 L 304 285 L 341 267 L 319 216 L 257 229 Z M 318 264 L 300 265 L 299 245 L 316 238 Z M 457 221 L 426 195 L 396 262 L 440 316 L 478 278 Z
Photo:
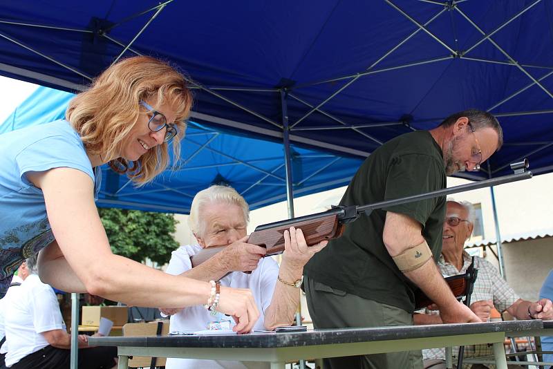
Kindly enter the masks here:
M 462 111 L 431 131 L 406 133 L 380 146 L 350 182 L 340 205 L 365 205 L 446 187 L 446 176 L 478 170 L 498 150 L 503 133 L 496 118 Z M 435 260 L 442 250 L 445 197 L 395 205 L 360 216 L 304 267 L 304 285 L 315 328 L 412 325 L 420 288 L 448 323 L 477 322 L 458 303 Z M 402 267 L 399 258 L 419 247 L 434 260 Z M 428 245 L 428 246 L 427 246 Z M 415 256 L 417 257 L 417 256 Z M 422 368 L 421 352 L 326 359 L 325 368 Z

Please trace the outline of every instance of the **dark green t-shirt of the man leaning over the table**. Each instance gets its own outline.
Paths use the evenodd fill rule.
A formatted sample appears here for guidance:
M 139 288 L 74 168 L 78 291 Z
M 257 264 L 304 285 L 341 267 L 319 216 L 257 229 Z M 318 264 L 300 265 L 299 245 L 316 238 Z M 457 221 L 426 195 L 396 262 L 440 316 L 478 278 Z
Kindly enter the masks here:
M 340 205 L 366 205 L 443 189 L 442 150 L 428 131 L 400 135 L 376 149 L 350 182 Z M 346 225 L 344 234 L 313 256 L 304 274 L 338 290 L 413 312 L 417 287 L 388 254 L 382 232 L 386 211 L 422 225 L 435 260 L 442 252 L 445 196 L 377 209 Z

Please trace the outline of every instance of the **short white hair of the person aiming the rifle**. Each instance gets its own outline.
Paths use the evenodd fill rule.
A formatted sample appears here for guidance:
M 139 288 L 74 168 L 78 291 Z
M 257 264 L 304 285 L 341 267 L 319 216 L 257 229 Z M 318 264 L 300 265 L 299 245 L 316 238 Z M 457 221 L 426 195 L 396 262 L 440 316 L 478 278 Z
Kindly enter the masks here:
M 205 205 L 209 204 L 238 205 L 244 212 L 246 223 L 250 222 L 250 207 L 240 193 L 229 186 L 212 185 L 196 193 L 194 200 L 192 200 L 188 226 L 195 235 L 203 236 L 205 222 L 203 221 L 203 216 L 201 216 L 201 211 Z

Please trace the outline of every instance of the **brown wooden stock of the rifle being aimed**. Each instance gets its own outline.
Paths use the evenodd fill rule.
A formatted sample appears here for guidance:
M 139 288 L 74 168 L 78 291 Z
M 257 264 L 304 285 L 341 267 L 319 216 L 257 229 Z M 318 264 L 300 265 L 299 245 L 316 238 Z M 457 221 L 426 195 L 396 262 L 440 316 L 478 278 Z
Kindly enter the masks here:
M 290 229 L 292 225 L 283 225 L 254 231 L 250 234 L 247 243 L 265 247 L 267 254 L 265 256 L 281 254 L 284 251 L 284 231 Z M 304 220 L 293 225 L 296 229 L 303 231 L 308 246 L 316 245 L 322 240 L 330 240 L 341 236 L 344 232 L 344 225 L 338 220 L 338 216 L 329 215 L 314 220 Z M 198 254 L 191 257 L 192 267 L 196 267 L 211 258 L 218 252 L 225 249 L 226 246 L 207 247 Z

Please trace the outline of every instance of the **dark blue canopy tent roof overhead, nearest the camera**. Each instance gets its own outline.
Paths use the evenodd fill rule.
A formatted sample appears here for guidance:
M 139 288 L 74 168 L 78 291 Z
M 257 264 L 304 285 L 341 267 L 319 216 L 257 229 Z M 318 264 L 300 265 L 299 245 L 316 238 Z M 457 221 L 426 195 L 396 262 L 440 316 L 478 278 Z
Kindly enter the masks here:
M 552 15 L 550 0 L 22 0 L 0 8 L 0 73 L 77 91 L 120 57 L 169 59 L 196 122 L 283 142 L 291 202 L 290 144 L 364 158 L 469 107 L 500 117 L 505 146 L 463 176 L 525 157 L 551 171 Z

